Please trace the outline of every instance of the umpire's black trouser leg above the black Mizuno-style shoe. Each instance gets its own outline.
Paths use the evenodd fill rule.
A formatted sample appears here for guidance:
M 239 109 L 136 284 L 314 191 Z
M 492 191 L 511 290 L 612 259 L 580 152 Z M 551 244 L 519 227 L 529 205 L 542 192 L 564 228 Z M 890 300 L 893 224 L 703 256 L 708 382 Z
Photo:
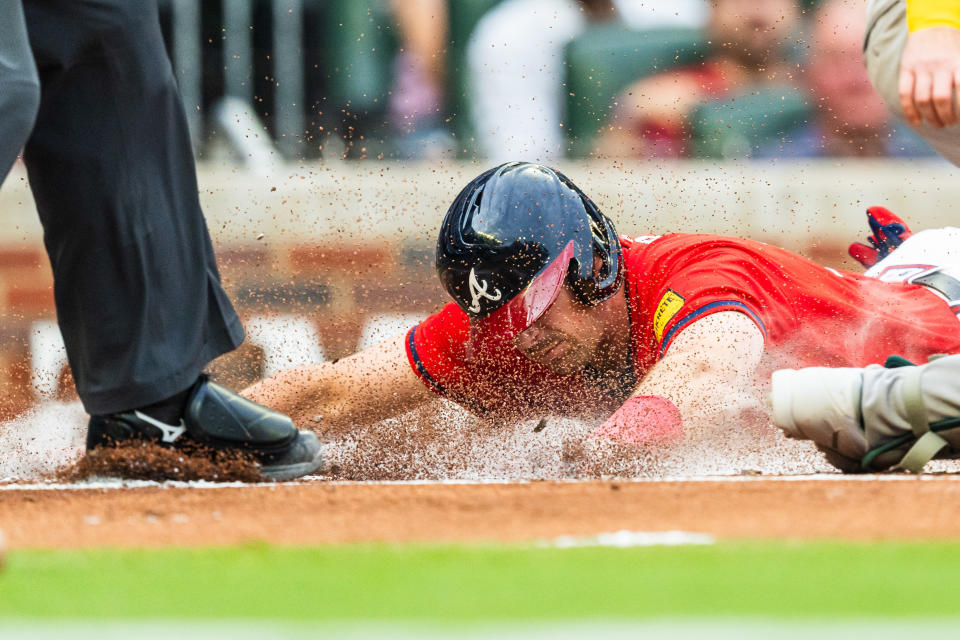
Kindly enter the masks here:
M 26 0 L 24 159 L 90 413 L 157 402 L 243 339 L 220 286 L 156 0 Z

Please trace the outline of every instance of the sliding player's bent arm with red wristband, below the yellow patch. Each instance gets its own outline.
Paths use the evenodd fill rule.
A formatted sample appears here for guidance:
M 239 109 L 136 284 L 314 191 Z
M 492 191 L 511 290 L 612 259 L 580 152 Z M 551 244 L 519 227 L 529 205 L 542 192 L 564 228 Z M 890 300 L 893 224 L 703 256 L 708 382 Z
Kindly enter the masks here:
M 693 322 L 597 435 L 656 443 L 678 436 L 681 423 L 726 413 L 755 384 L 763 350 L 763 333 L 746 314 L 723 311 Z

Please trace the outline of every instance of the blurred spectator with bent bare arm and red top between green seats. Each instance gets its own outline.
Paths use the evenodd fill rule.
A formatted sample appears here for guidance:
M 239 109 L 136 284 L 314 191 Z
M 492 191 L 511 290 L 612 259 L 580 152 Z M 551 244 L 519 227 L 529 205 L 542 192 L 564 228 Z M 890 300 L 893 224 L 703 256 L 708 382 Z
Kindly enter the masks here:
M 689 116 L 706 100 L 795 82 L 791 47 L 800 14 L 797 0 L 713 0 L 712 9 L 710 57 L 643 78 L 624 91 L 598 138 L 598 155 L 684 156 Z

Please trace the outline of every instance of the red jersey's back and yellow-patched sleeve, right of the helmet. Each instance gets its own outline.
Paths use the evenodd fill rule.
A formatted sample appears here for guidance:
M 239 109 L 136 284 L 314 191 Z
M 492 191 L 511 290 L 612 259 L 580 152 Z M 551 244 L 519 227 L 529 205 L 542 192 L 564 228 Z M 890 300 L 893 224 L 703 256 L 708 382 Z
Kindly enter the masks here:
M 625 247 L 641 376 L 685 327 L 721 311 L 751 318 L 781 366 L 864 366 L 892 353 L 922 361 L 960 348 L 957 318 L 924 287 L 741 238 L 671 234 Z

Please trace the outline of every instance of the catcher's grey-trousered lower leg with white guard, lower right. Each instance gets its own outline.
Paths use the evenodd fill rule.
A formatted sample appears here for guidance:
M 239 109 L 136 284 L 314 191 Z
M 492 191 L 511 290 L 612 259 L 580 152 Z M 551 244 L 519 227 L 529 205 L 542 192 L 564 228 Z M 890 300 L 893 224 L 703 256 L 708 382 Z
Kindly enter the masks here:
M 785 369 L 773 374 L 773 421 L 813 440 L 844 471 L 897 466 L 919 473 L 960 452 L 960 355 L 917 367 Z

